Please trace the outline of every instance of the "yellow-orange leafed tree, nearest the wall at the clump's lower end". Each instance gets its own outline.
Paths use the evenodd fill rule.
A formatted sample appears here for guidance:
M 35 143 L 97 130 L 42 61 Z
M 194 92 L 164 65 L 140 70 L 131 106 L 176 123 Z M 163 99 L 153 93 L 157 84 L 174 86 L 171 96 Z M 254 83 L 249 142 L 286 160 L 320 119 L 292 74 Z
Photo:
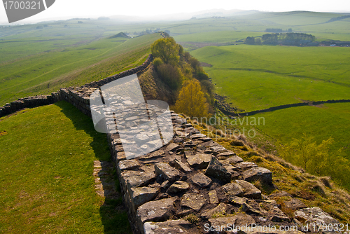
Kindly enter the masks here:
M 186 81 L 179 92 L 175 109 L 179 113 L 193 117 L 207 116 L 208 105 L 198 81 Z

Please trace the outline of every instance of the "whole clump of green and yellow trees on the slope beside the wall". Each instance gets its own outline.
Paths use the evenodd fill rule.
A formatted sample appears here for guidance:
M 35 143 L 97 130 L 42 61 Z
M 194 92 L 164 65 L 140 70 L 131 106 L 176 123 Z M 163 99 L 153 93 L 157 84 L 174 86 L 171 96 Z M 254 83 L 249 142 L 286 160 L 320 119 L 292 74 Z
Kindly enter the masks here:
M 191 118 L 207 116 L 214 106 L 214 85 L 200 62 L 172 37 L 158 39 L 151 51 L 158 76 L 176 94 L 172 109 Z

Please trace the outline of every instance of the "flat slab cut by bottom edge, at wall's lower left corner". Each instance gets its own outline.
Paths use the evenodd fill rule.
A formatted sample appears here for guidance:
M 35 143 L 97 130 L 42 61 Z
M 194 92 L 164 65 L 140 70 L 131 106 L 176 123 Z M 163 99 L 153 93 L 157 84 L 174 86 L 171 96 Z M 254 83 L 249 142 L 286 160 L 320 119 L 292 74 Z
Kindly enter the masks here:
M 146 222 L 144 224 L 145 234 L 193 234 L 199 233 L 196 226 L 189 221 L 179 220 L 168 220 L 165 222 Z

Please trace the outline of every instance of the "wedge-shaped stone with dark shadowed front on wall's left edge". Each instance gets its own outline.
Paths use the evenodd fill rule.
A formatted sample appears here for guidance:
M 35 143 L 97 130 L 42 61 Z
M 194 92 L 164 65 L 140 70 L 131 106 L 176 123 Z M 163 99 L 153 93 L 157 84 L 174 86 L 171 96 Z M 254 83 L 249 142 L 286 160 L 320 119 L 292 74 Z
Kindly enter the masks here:
M 153 200 L 159 193 L 160 188 L 139 187 L 131 188 L 132 204 L 136 211 L 137 207 Z

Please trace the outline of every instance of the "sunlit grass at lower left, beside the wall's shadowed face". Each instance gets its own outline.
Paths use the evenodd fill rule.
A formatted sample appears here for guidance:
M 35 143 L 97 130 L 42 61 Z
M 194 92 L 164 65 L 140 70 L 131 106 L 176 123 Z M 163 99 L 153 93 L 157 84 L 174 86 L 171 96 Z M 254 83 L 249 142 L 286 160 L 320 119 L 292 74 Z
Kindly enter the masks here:
M 119 200 L 94 191 L 106 135 L 66 102 L 0 118 L 0 233 L 131 233 Z

